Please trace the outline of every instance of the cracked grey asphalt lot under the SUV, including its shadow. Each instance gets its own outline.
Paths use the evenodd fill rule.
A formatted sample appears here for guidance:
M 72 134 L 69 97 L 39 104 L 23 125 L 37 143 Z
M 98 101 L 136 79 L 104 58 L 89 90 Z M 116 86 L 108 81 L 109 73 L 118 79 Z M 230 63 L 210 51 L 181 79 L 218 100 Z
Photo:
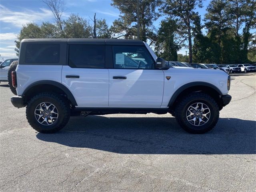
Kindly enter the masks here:
M 231 103 L 202 135 L 170 114 L 71 117 L 41 134 L 1 82 L 0 191 L 255 191 L 256 74 L 231 80 Z

